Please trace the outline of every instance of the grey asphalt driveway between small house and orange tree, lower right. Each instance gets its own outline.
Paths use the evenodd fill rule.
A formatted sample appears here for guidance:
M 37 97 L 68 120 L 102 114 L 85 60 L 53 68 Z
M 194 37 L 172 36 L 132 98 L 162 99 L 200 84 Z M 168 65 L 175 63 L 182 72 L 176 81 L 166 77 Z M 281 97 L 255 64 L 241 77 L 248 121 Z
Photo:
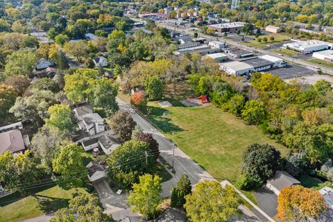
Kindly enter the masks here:
M 268 216 L 275 216 L 278 214 L 278 196 L 267 187 L 262 187 L 255 191 L 255 198 L 258 202 L 258 207 L 264 211 Z

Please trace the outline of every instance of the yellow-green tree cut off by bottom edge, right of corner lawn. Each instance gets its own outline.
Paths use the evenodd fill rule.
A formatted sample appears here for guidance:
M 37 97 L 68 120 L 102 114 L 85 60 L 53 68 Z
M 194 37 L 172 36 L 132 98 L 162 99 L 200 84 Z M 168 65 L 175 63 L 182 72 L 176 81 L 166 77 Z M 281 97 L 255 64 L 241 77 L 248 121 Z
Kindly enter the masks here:
M 69 206 L 56 212 L 51 222 L 115 222 L 112 216 L 103 213 L 99 198 L 93 194 L 76 193 Z

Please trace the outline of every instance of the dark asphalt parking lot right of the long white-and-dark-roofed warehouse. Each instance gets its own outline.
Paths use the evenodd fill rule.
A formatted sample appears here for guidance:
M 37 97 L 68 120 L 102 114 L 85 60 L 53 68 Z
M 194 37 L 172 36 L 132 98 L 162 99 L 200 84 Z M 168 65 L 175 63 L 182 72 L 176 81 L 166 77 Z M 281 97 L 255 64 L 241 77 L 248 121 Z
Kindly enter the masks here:
M 301 67 L 299 65 L 289 65 L 289 64 L 286 67 L 282 67 L 279 69 L 272 69 L 267 72 L 279 76 L 282 79 L 296 78 L 301 76 L 311 76 L 316 74 L 316 71 L 312 71 L 310 69 Z

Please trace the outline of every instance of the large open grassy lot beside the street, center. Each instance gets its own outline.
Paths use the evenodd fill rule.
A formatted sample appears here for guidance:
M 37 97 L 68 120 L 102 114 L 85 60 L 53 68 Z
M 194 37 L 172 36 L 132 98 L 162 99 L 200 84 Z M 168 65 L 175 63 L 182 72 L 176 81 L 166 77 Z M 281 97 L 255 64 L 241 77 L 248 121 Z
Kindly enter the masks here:
M 214 105 L 189 108 L 178 101 L 169 101 L 173 107 L 160 108 L 156 102 L 148 103 L 152 112 L 149 118 L 182 151 L 218 180 L 237 180 L 241 156 L 250 144 L 268 143 L 277 147 L 282 155 L 288 152 L 257 126 L 248 126 Z M 165 111 L 169 114 L 164 118 L 162 114 Z

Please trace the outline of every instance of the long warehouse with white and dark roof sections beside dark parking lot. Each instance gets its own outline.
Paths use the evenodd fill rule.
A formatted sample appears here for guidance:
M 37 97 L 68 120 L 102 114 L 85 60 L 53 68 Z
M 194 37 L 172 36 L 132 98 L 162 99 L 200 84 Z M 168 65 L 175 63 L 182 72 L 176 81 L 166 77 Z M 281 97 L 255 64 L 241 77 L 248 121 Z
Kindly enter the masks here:
M 241 76 L 255 71 L 285 67 L 287 62 L 274 56 L 259 56 L 242 62 L 232 61 L 220 63 L 220 69 L 228 74 Z

